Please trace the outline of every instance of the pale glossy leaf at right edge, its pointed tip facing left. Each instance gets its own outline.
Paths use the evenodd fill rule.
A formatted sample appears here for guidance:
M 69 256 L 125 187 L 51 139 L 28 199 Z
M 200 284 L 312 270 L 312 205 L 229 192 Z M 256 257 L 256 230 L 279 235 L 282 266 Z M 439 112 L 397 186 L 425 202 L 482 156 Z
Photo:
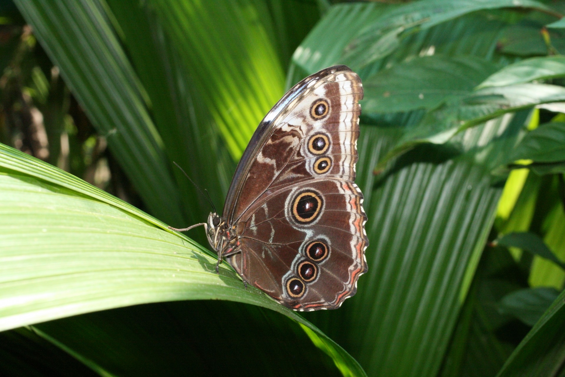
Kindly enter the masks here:
M 529 83 L 565 76 L 565 57 L 543 57 L 521 60 L 493 73 L 477 88 Z

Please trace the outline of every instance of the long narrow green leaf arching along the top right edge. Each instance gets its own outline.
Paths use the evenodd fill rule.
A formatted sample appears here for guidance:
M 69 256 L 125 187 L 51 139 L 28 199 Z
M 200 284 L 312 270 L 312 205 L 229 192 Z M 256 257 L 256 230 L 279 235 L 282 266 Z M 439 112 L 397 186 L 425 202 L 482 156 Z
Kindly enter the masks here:
M 413 2 L 386 12 L 372 25 L 363 29 L 346 50 L 344 59 L 353 67 L 364 67 L 386 57 L 397 49 L 401 38 L 408 33 L 431 28 L 470 12 L 502 7 L 524 7 L 552 12 L 544 4 L 524 0 L 428 0 Z M 555 13 L 556 16 L 559 16 Z

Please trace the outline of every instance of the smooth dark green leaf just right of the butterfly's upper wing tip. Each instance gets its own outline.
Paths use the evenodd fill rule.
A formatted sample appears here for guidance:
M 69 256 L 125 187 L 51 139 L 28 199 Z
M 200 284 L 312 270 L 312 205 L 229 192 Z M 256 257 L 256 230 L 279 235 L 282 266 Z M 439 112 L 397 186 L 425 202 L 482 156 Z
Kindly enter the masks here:
M 469 94 L 495 67 L 478 57 L 415 58 L 363 81 L 363 111 L 433 109 L 446 99 Z

